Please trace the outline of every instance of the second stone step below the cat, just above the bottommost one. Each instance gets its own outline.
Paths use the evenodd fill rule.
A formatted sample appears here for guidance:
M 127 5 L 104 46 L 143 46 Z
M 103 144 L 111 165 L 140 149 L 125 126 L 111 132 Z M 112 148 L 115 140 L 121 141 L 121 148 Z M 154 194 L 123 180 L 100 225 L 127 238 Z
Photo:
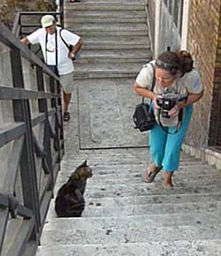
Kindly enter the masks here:
M 118 229 L 51 229 L 42 233 L 42 245 L 53 246 L 54 244 L 126 244 L 148 243 L 150 241 L 179 241 L 197 239 L 221 239 L 220 224 L 210 226 L 185 225 L 174 227 L 149 227 L 131 229 L 130 223 Z

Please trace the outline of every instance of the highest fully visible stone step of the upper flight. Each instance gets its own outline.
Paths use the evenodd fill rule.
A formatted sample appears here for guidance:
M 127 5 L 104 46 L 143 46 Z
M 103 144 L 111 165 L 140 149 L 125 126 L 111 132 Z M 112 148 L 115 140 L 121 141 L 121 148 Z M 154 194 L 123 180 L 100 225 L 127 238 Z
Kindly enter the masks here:
M 96 11 L 96 12 L 113 12 L 113 11 L 145 11 L 145 5 L 143 3 L 118 3 L 118 2 L 100 2 L 96 4 L 93 1 L 82 2 L 82 3 L 66 3 L 64 6 L 64 11 Z

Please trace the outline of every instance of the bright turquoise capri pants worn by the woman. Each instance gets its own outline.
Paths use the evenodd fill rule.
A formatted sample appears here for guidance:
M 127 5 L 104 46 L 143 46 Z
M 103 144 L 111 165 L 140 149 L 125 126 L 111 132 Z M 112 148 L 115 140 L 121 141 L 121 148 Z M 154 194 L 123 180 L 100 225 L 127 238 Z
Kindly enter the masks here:
M 158 124 L 149 131 L 150 157 L 156 167 L 163 167 L 165 172 L 174 172 L 179 168 L 181 146 L 187 132 L 193 112 L 193 105 L 187 105 L 181 128 L 174 134 L 167 134 Z M 176 128 L 168 128 L 172 133 Z

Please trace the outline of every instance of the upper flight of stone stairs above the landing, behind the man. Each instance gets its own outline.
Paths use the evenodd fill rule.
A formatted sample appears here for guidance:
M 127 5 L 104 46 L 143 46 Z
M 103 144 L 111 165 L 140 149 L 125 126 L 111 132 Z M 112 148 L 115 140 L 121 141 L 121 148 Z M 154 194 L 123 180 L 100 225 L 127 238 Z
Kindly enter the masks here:
M 84 40 L 75 79 L 133 78 L 151 58 L 146 20 L 142 0 L 65 4 L 65 27 Z

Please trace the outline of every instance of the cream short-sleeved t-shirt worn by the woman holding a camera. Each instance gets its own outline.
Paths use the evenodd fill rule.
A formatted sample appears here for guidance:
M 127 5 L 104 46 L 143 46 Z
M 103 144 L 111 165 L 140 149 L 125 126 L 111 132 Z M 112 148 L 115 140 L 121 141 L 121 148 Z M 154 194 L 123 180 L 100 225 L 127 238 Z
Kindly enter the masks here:
M 151 63 L 155 66 L 155 60 Z M 148 63 L 144 65 L 141 72 L 136 78 L 136 83 L 142 88 L 151 89 L 152 81 L 154 77 L 154 71 L 152 66 Z M 179 97 L 187 97 L 188 94 L 199 94 L 203 90 L 202 81 L 200 74 L 196 70 L 187 72 L 182 77 L 176 79 L 169 87 L 164 88 L 155 83 L 154 93 L 158 95 L 164 95 L 166 93 L 174 93 L 179 95 Z M 156 121 L 158 121 L 158 110 L 154 110 Z M 175 118 L 162 118 L 160 117 L 162 124 L 165 127 L 176 127 L 178 124 L 178 117 Z

